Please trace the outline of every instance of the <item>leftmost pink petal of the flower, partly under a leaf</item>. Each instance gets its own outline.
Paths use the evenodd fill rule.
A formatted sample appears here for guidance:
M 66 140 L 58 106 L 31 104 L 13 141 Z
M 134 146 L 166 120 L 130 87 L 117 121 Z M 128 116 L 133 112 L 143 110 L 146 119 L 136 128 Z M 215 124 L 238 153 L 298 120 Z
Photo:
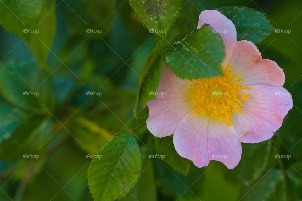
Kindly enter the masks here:
M 191 111 L 193 103 L 188 93 L 191 84 L 192 81 L 176 77 L 164 63 L 156 100 L 147 103 L 147 128 L 154 136 L 172 135 L 181 119 Z

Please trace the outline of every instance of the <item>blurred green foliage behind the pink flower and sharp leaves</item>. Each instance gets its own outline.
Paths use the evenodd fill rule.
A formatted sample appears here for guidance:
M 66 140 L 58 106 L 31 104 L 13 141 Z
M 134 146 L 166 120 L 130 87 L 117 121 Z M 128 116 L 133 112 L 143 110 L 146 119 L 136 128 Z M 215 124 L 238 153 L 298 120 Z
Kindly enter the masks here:
M 16 12 L 21 5 L 31 9 Z M 204 9 L 235 5 L 262 11 L 276 29 L 291 30 L 256 45 L 263 58 L 284 70 L 293 109 L 271 140 L 243 144 L 234 170 L 212 161 L 201 169 L 191 165 L 184 176 L 149 158 L 156 154 L 155 140 L 145 127 L 133 131 L 141 174 L 122 199 L 302 199 L 302 2 L 185 0 L 167 37 L 195 30 Z M 132 111 L 140 75 L 160 37 L 123 0 L 3 0 L 0 11 L 0 200 L 93 200 L 87 154 L 113 138 L 109 132 L 127 132 L 145 122 L 146 108 L 137 105 L 137 119 Z

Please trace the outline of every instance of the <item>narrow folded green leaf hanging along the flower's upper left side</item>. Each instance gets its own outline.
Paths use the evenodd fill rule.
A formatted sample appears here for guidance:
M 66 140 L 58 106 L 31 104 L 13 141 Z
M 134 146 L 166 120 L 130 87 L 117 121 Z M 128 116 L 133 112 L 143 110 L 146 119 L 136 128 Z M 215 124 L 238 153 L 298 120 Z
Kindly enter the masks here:
M 149 92 L 156 91 L 161 77 L 162 71 L 162 56 L 161 54 L 170 46 L 171 39 L 160 40 L 152 52 L 150 53 L 147 63 L 138 81 L 138 89 L 134 104 L 133 115 L 137 114 L 137 103 L 140 100 L 142 107 L 146 106 L 148 100 L 155 99 L 155 95 L 150 95 Z

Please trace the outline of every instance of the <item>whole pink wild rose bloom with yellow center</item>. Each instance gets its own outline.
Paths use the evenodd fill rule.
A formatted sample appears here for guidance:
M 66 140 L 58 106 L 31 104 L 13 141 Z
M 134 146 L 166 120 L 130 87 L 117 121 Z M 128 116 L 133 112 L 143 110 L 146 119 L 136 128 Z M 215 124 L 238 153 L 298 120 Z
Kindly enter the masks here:
M 156 137 L 174 134 L 176 151 L 197 167 L 217 160 L 232 169 L 240 161 L 241 143 L 270 139 L 293 100 L 282 87 L 283 70 L 276 62 L 262 59 L 252 42 L 236 41 L 231 20 L 219 11 L 205 10 L 197 28 L 203 24 L 224 41 L 224 76 L 183 80 L 164 63 L 160 95 L 148 102 L 147 128 Z

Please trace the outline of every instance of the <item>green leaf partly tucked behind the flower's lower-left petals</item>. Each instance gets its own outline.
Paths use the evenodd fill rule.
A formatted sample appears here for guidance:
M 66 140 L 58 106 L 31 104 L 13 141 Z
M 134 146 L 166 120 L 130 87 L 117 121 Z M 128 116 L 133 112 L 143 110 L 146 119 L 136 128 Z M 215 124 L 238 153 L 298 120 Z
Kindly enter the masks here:
M 160 157 L 166 164 L 171 166 L 175 171 L 182 173 L 183 175 L 188 175 L 191 161 L 182 158 L 175 150 L 173 145 L 173 135 L 164 138 L 155 139 L 155 149 L 156 154 Z

